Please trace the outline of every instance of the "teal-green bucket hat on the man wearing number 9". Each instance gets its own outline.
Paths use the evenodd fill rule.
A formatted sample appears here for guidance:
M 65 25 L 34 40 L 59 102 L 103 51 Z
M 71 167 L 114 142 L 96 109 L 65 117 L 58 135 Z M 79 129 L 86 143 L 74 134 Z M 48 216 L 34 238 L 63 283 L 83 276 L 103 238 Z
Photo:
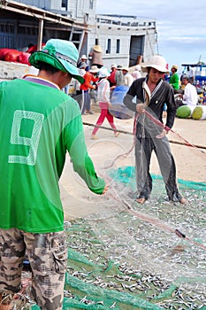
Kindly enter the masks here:
M 84 82 L 77 68 L 79 53 L 76 46 L 69 41 L 50 39 L 42 50 L 37 50 L 28 61 L 32 66 L 39 69 L 39 61 L 45 62 L 55 68 L 67 72 L 80 83 Z

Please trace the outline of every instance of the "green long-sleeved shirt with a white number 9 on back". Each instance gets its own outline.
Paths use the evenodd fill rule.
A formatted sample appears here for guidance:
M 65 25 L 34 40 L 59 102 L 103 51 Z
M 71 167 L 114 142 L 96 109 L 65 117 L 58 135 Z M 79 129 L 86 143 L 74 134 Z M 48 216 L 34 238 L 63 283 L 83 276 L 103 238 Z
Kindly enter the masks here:
M 96 194 L 79 105 L 59 89 L 27 80 L 0 83 L 0 228 L 64 229 L 58 180 L 69 152 L 75 172 Z

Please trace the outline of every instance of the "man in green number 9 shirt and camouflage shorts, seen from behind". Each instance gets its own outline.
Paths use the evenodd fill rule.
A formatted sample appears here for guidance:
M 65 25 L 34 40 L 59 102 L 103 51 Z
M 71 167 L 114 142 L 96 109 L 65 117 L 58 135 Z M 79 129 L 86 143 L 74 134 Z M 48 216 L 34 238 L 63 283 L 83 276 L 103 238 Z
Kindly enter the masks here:
M 50 39 L 29 58 L 37 76 L 0 83 L 1 310 L 20 290 L 26 253 L 32 298 L 41 309 L 62 309 L 67 246 L 58 181 L 66 151 L 89 190 L 107 191 L 88 156 L 80 108 L 61 90 L 72 77 L 83 82 L 77 60 L 73 43 Z

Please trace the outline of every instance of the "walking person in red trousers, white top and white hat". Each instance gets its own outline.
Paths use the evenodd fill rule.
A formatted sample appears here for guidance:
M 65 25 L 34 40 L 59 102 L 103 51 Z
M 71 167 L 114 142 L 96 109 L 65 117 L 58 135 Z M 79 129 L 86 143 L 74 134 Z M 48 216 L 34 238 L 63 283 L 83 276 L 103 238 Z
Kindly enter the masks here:
M 97 98 L 101 112 L 95 125 L 101 126 L 103 124 L 103 120 L 107 119 L 111 125 L 111 128 L 117 129 L 116 126 L 114 125 L 114 118 L 109 112 L 109 106 L 111 105 L 111 103 L 110 103 L 110 83 L 107 80 L 108 76 L 110 76 L 110 74 L 105 67 L 99 70 L 99 81 L 97 82 Z M 94 130 L 92 131 L 91 138 L 93 140 L 98 139 L 97 136 L 95 136 L 98 129 L 99 129 L 98 127 L 95 127 Z M 118 132 L 116 130 L 114 130 L 114 136 L 118 136 Z

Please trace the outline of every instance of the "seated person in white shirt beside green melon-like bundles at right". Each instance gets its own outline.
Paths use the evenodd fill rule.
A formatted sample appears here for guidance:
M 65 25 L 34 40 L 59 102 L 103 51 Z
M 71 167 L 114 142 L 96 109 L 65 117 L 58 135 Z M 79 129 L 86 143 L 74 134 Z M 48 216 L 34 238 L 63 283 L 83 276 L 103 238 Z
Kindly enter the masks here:
M 185 85 L 184 94 L 179 94 L 182 100 L 176 100 L 176 103 L 180 105 L 197 105 L 198 95 L 194 85 L 191 84 L 188 76 L 183 77 L 183 84 Z

